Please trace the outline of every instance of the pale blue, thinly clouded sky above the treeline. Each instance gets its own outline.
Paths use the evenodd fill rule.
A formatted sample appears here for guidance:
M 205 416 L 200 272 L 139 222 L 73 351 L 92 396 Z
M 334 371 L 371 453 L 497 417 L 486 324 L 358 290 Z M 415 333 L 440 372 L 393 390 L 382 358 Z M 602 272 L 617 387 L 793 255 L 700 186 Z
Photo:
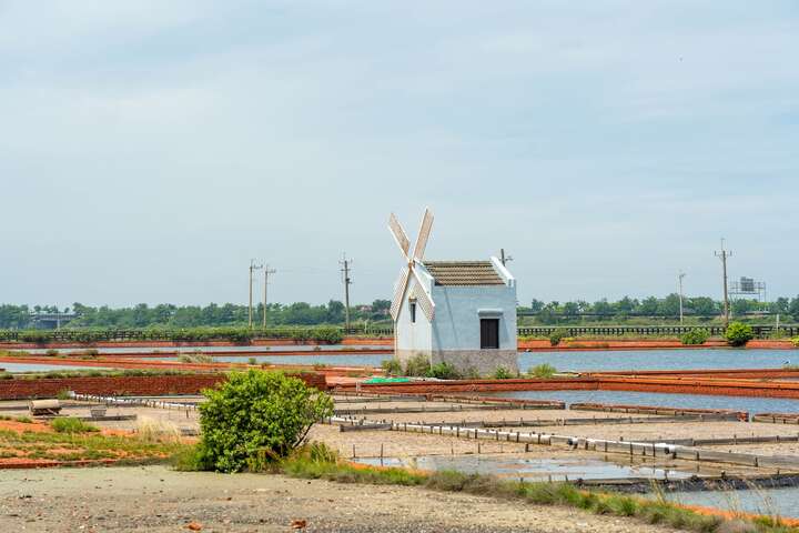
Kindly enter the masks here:
M 0 0 L 0 303 L 799 293 L 799 3 Z M 261 279 L 255 286 L 261 291 Z

